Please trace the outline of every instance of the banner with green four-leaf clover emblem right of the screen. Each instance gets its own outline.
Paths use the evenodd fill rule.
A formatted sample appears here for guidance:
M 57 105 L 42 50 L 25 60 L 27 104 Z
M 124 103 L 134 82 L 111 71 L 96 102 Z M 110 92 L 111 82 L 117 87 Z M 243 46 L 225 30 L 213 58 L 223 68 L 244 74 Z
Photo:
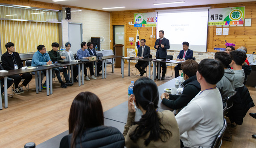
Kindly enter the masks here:
M 244 23 L 245 7 L 209 9 L 208 25 L 240 25 Z

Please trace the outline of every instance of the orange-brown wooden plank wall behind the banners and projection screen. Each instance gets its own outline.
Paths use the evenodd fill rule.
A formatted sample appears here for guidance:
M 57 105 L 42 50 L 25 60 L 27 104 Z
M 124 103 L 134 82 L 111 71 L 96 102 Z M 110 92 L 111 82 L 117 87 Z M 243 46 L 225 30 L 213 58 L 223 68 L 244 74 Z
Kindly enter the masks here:
M 205 5 L 206 6 L 206 5 Z M 244 2 L 244 3 L 225 3 L 225 4 L 214 4 L 207 5 L 211 6 L 211 8 L 226 8 L 226 7 L 237 7 L 237 6 L 245 6 L 245 18 L 252 18 L 251 27 L 229 27 L 229 35 L 216 35 L 216 26 L 208 26 L 208 35 L 207 35 L 207 51 L 215 52 L 215 47 L 225 47 L 225 40 L 229 43 L 236 44 L 236 48 L 239 46 L 246 46 L 248 49 L 247 53 L 252 53 L 256 51 L 256 2 Z M 195 8 L 195 7 L 204 7 L 204 6 L 188 6 L 186 8 Z M 165 9 L 165 8 L 163 8 Z M 177 8 L 166 8 L 166 9 L 180 9 Z M 124 23 L 132 21 L 134 23 L 134 13 L 146 13 L 146 12 L 154 12 L 157 9 L 144 9 L 144 10 L 133 10 L 133 11 L 119 11 L 112 12 L 112 23 Z M 221 27 L 223 28 L 223 27 Z M 151 27 L 138 27 L 140 31 L 140 39 L 146 39 L 146 45 L 150 46 L 151 49 L 154 49 L 154 42 L 156 38 L 150 38 L 152 35 Z M 111 30 L 113 32 L 113 29 Z M 137 28 L 132 25 L 127 25 L 127 30 L 125 30 L 125 34 L 127 34 L 127 40 L 129 37 L 133 37 L 135 39 L 137 33 Z M 113 35 L 112 35 L 113 36 Z M 112 40 L 113 37 L 111 36 Z M 158 36 L 156 32 L 156 27 L 153 27 L 153 36 Z M 135 48 L 135 41 L 131 46 L 130 42 L 127 41 L 127 48 Z

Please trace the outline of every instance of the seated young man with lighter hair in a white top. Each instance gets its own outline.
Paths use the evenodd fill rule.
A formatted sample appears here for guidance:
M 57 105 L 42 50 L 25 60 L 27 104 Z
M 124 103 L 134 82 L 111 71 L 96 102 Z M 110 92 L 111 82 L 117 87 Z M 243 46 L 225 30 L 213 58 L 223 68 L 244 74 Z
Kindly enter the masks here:
M 74 55 L 73 55 L 73 52 L 70 51 L 70 48 L 71 48 L 71 43 L 70 42 L 67 42 L 65 44 L 65 48 L 66 50 L 64 50 L 62 53 L 61 53 L 61 56 L 64 56 L 65 58 L 63 59 L 64 61 L 73 61 L 75 60 L 74 58 Z M 73 65 L 73 74 L 74 75 L 78 75 L 78 67 L 76 65 Z M 70 78 L 71 79 L 71 78 Z M 78 80 L 76 79 L 76 77 L 73 78 L 73 81 L 74 82 L 78 82 Z

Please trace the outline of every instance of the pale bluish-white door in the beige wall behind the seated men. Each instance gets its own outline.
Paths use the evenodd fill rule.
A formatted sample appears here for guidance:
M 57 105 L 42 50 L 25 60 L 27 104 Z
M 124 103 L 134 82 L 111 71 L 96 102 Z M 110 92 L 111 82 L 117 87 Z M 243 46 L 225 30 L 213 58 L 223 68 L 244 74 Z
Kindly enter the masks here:
M 82 23 L 68 23 L 68 40 L 71 44 L 70 50 L 75 54 L 81 48 L 83 39 Z M 65 43 L 64 43 L 65 44 Z

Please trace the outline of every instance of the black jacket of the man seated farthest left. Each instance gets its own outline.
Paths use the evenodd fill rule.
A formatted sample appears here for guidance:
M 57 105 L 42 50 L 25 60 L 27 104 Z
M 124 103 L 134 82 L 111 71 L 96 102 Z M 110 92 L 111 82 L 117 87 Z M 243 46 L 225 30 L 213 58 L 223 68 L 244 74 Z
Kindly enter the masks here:
M 14 70 L 14 64 L 18 65 L 18 69 L 23 67 L 23 62 L 20 59 L 20 55 L 18 52 L 13 52 L 14 58 L 9 52 L 5 52 L 2 57 L 2 66 L 4 70 Z

